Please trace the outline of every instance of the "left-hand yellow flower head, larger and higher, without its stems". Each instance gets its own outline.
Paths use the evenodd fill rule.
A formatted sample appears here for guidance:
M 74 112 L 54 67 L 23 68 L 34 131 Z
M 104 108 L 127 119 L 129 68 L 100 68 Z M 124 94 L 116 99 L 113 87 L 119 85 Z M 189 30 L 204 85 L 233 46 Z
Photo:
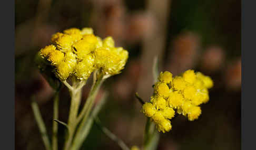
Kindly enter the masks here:
M 128 52 L 115 47 L 112 37 L 101 39 L 92 28 L 70 28 L 56 33 L 52 44 L 42 48 L 39 55 L 55 67 L 60 80 L 70 76 L 86 80 L 95 69 L 101 69 L 105 77 L 120 73 L 128 58 Z

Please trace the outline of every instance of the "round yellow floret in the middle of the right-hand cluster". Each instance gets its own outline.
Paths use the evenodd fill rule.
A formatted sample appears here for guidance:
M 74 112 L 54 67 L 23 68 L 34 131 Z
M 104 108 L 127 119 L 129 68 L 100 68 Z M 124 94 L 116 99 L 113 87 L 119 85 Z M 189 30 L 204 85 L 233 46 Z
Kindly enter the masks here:
M 184 98 L 178 91 L 171 92 L 168 98 L 169 104 L 172 108 L 176 109 L 182 105 Z

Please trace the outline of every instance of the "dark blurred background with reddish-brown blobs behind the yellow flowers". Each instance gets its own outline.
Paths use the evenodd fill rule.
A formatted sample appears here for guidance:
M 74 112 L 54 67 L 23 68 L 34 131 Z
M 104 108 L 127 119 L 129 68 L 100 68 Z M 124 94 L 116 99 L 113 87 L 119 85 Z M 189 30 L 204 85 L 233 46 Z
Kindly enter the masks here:
M 240 149 L 241 1 L 236 0 L 16 0 L 15 149 L 44 149 L 30 102 L 36 95 L 50 134 L 53 90 L 34 65 L 34 56 L 52 34 L 71 27 L 92 27 L 96 35 L 112 36 L 129 51 L 125 69 L 106 80 L 97 97 L 110 92 L 99 117 L 127 145 L 142 144 L 146 118 L 134 93 L 149 101 L 158 56 L 160 71 L 201 71 L 212 77 L 214 87 L 199 119 L 175 117 L 157 149 Z M 83 89 L 83 102 L 90 83 Z M 61 121 L 67 121 L 69 104 L 63 88 Z M 60 125 L 60 145 L 64 134 Z M 120 148 L 94 125 L 82 149 Z

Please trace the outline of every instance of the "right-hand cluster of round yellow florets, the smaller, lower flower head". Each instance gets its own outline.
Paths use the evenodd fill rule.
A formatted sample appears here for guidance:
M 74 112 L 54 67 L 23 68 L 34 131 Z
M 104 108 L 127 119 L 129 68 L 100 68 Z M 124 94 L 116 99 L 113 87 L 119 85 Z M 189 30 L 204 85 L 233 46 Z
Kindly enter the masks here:
M 200 104 L 209 101 L 208 89 L 213 87 L 210 77 L 194 70 L 185 71 L 182 76 L 172 77 L 172 73 L 161 72 L 154 84 L 154 94 L 150 102 L 142 106 L 142 111 L 156 124 L 159 132 L 169 132 L 175 115 L 183 114 L 189 121 L 198 119 Z

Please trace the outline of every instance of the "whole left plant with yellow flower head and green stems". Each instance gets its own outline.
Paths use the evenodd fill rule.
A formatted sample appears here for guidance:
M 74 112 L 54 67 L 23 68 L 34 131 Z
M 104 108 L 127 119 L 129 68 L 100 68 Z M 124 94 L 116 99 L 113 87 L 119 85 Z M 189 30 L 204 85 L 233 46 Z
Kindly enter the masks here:
M 51 45 L 42 48 L 36 57 L 38 68 L 56 90 L 54 99 L 54 117 L 52 142 L 46 134 L 40 112 L 35 101 L 32 108 L 41 130 L 46 149 L 58 149 L 57 122 L 67 127 L 64 143 L 65 150 L 79 149 L 92 124 L 91 114 L 95 95 L 102 82 L 119 74 L 124 68 L 128 52 L 122 47 L 115 47 L 112 37 L 101 39 L 93 34 L 93 29 L 70 28 L 63 33 L 56 33 L 51 38 Z M 93 85 L 81 112 L 82 88 L 93 73 Z M 58 90 L 60 83 L 66 85 L 71 95 L 70 113 L 67 123 L 58 120 Z M 96 108 L 95 111 L 99 111 Z M 92 112 L 92 113 L 91 113 Z

